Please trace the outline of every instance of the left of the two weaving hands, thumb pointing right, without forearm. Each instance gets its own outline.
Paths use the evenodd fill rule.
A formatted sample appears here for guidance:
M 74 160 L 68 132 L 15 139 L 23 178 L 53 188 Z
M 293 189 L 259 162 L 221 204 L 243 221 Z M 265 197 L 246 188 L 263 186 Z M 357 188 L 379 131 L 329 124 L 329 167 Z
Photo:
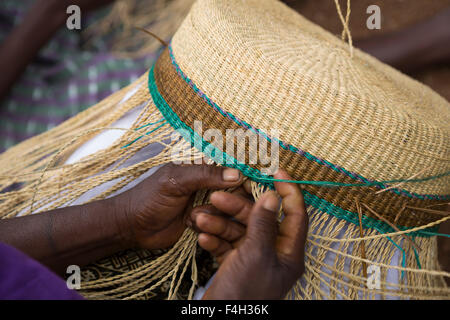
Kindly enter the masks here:
M 173 245 L 186 227 L 186 207 L 200 189 L 226 189 L 242 183 L 236 169 L 168 164 L 134 188 L 111 198 L 125 241 L 147 249 Z

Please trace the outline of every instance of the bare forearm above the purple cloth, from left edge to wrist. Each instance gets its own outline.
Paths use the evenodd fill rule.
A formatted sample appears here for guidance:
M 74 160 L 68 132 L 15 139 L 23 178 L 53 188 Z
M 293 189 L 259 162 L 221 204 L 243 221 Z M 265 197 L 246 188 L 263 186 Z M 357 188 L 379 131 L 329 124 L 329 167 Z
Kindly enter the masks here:
M 131 247 L 127 221 L 113 200 L 0 220 L 0 242 L 10 244 L 57 273 Z

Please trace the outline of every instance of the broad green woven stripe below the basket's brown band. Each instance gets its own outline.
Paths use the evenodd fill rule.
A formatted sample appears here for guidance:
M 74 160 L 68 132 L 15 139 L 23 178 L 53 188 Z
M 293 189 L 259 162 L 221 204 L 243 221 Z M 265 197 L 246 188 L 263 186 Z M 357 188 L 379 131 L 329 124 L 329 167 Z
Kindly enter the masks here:
M 235 158 L 230 157 L 227 153 L 217 149 L 209 142 L 205 141 L 201 136 L 199 136 L 194 130 L 192 130 L 191 127 L 186 125 L 179 117 L 178 115 L 172 110 L 172 108 L 167 104 L 167 102 L 164 100 L 164 98 L 161 96 L 161 94 L 158 91 L 158 87 L 156 85 L 155 77 L 154 77 L 154 66 L 151 68 L 148 76 L 148 88 L 149 92 L 152 96 L 152 99 L 156 105 L 156 107 L 159 109 L 159 111 L 162 113 L 164 118 L 170 123 L 170 125 L 177 130 L 183 138 L 190 142 L 192 146 L 194 146 L 196 149 L 202 151 L 204 154 L 206 154 L 208 157 L 214 159 L 216 162 L 221 163 L 225 166 L 232 167 L 239 169 L 245 176 L 251 176 L 253 180 L 256 182 L 260 182 L 266 186 L 268 186 L 271 189 L 274 189 L 273 183 L 267 183 L 266 178 L 267 175 L 264 175 L 259 170 L 256 170 L 252 167 L 247 166 L 246 164 L 240 163 Z M 258 178 L 259 177 L 259 178 Z M 307 191 L 303 191 L 303 195 L 305 197 L 306 204 L 320 210 L 323 212 L 326 212 L 338 219 L 343 219 L 347 222 L 353 223 L 355 225 L 359 225 L 359 219 L 358 214 L 344 210 L 338 206 L 335 206 L 334 204 L 321 199 Z M 389 226 L 388 224 L 373 219 L 371 217 L 362 216 L 362 225 L 365 229 L 375 229 L 379 231 L 380 233 L 390 233 L 394 232 L 395 230 Z M 399 226 L 400 230 L 407 230 L 408 228 Z M 422 233 L 422 231 L 425 231 L 427 233 Z M 415 232 L 411 232 L 410 235 L 412 236 L 420 236 L 420 237 L 430 237 L 432 235 L 429 234 L 429 232 L 436 231 L 436 228 L 429 228 L 425 230 L 419 230 Z

